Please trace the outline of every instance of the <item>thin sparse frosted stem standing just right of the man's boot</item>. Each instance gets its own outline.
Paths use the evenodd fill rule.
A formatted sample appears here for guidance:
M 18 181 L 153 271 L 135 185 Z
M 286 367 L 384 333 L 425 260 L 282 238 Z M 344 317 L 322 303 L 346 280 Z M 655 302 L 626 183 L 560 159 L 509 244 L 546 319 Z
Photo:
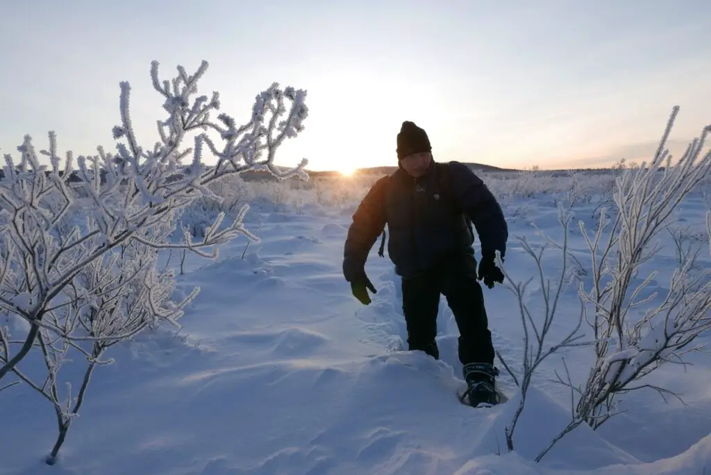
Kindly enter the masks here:
M 501 353 L 499 351 L 496 351 L 498 359 L 501 360 L 501 363 L 503 364 L 504 368 L 506 368 L 506 371 L 508 371 L 510 376 L 513 378 L 520 391 L 518 407 L 515 410 L 510 424 L 505 429 L 506 445 L 509 451 L 513 450 L 513 432 L 515 431 L 518 418 L 523 412 L 526 394 L 528 393 L 528 388 L 533 379 L 533 374 L 535 373 L 536 368 L 538 368 L 538 366 L 540 366 L 540 364 L 545 361 L 548 356 L 554 354 L 560 349 L 589 344 L 580 341 L 582 337 L 584 337 L 584 335 L 579 332 L 580 327 L 582 326 L 581 312 L 577 324 L 573 327 L 570 333 L 565 335 L 565 337 L 560 339 L 560 341 L 556 344 L 547 346 L 547 336 L 550 332 L 552 323 L 557 315 L 558 303 L 560 302 L 560 295 L 562 289 L 565 287 L 567 279 L 570 278 L 570 271 L 567 265 L 567 261 L 570 258 L 567 236 L 571 217 L 570 214 L 565 214 L 565 212 L 560 207 L 559 213 L 560 223 L 562 224 L 564 230 L 564 238 L 563 244 L 562 246 L 560 246 L 560 251 L 562 253 L 562 269 L 560 271 L 560 275 L 557 276 L 555 283 L 552 283 L 550 278 L 546 277 L 545 272 L 543 270 L 542 256 L 545 252 L 545 249 L 547 248 L 546 244 L 544 244 L 541 247 L 540 251 L 536 253 L 536 251 L 533 250 L 533 248 L 530 246 L 530 244 L 528 244 L 528 241 L 526 241 L 525 238 L 519 238 L 523 251 L 525 251 L 525 253 L 527 253 L 529 256 L 531 256 L 531 258 L 533 258 L 538 268 L 537 277 L 538 285 L 540 287 L 534 292 L 537 295 L 540 295 L 543 300 L 542 315 L 540 318 L 535 317 L 534 312 L 530 310 L 528 304 L 526 303 L 526 300 L 528 300 L 527 288 L 534 278 L 531 277 L 525 283 L 516 283 L 506 272 L 506 270 L 503 270 L 503 273 L 508 282 L 507 288 L 512 291 L 518 302 L 521 324 L 523 325 L 524 348 L 522 362 L 523 367 L 520 377 L 517 377 L 513 373 L 510 368 L 510 365 L 506 363 Z M 499 264 L 503 269 L 501 259 L 499 259 Z

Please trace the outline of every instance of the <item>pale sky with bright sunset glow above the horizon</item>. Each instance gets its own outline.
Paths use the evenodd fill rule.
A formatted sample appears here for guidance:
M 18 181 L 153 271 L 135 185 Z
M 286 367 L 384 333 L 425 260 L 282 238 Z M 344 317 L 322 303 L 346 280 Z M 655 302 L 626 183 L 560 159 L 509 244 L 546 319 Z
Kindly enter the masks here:
M 711 124 L 711 1 L 0 1 L 0 153 L 115 150 L 119 82 L 139 141 L 165 119 L 152 89 L 210 64 L 240 124 L 272 82 L 306 89 L 305 129 L 278 165 L 395 165 L 402 121 L 439 161 L 503 168 L 600 167 L 683 153 Z M 205 163 L 215 158 L 205 156 Z

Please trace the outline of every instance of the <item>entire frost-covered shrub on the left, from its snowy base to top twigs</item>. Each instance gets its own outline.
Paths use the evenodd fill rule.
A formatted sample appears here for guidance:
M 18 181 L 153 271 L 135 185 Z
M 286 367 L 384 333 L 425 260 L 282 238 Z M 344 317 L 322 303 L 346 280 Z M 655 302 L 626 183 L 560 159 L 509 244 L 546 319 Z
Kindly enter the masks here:
M 7 320 L 23 320 L 27 328 L 20 334 L 0 329 L 0 388 L 14 375 L 34 385 L 60 411 L 60 437 L 48 462 L 55 459 L 80 405 L 60 404 L 55 391 L 57 370 L 68 351 L 80 351 L 93 368 L 111 344 L 152 322 L 177 324 L 182 315 L 189 299 L 173 302 L 173 275 L 156 271 L 158 251 L 183 249 L 210 257 L 240 234 L 258 239 L 243 223 L 248 207 L 242 197 L 218 195 L 218 180 L 250 170 L 279 179 L 308 178 L 306 160 L 291 170 L 274 166 L 279 146 L 303 129 L 306 92 L 274 83 L 257 94 L 245 124 L 225 113 L 213 121 L 210 114 L 220 109 L 219 94 L 196 96 L 207 67 L 203 62 L 188 75 L 178 66 L 176 77 L 161 82 L 158 62 L 152 63 L 151 80 L 167 113 L 158 121 L 160 141 L 154 146 L 137 142 L 129 111 L 131 87 L 121 82 L 115 155 L 99 147 L 98 155 L 77 157 L 75 163 L 67 153 L 61 169 L 53 132 L 48 150 L 41 151 L 49 165 L 41 163 L 29 136 L 18 147 L 18 163 L 5 155 L 0 312 Z M 192 146 L 183 148 L 191 134 Z M 216 165 L 203 164 L 205 148 L 217 158 Z M 201 239 L 186 228 L 181 229 L 183 239 L 176 239 L 181 214 L 205 209 L 210 202 L 220 205 L 211 208 L 218 213 L 201 228 Z M 231 222 L 223 225 L 228 216 Z M 46 361 L 44 385 L 23 376 L 21 362 L 31 351 L 41 352 Z

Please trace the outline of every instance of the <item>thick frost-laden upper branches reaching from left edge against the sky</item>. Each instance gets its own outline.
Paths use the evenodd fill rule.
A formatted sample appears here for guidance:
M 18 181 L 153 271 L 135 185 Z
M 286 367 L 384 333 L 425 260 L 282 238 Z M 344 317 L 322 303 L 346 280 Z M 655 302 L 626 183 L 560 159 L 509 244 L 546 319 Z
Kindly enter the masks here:
M 56 317 L 55 308 L 65 304 L 65 295 L 77 285 L 77 278 L 114 249 L 141 244 L 154 250 L 188 249 L 215 256 L 216 246 L 239 234 L 256 240 L 242 222 L 245 206 L 222 229 L 224 214 L 205 229 L 202 239 L 194 241 L 186 233 L 184 241 L 171 243 L 169 236 L 181 209 L 205 196 L 220 200 L 210 192 L 211 182 L 247 170 L 268 170 L 279 178 L 307 178 L 306 160 L 292 170 L 274 165 L 275 152 L 284 139 L 303 129 L 308 114 L 306 92 L 280 89 L 274 83 L 257 94 L 246 124 L 237 125 L 224 113 L 213 121 L 210 113 L 220 108 L 218 93 L 195 97 L 197 82 L 207 67 L 203 62 L 195 74 L 188 75 L 178 66 L 173 80 L 161 82 L 158 63 L 152 63 L 153 86 L 164 97 L 167 112 L 166 119 L 157 123 L 160 141 L 152 148 L 139 145 L 129 114 L 131 88 L 121 82 L 121 124 L 113 129 L 117 153 L 105 153 L 99 147 L 98 155 L 77 157 L 76 169 L 72 153 L 67 153 L 60 169 L 55 134 L 50 132 L 48 151 L 41 151 L 49 166 L 41 164 L 29 136 L 18 147 L 18 164 L 5 155 L 0 180 L 0 311 L 25 320 L 29 329 L 16 351 L 4 352 L 0 381 L 33 347 L 43 344 L 38 342 L 41 330 L 47 332 L 44 344 L 56 337 L 62 338 L 58 340 L 61 345 L 75 343 L 78 336 L 67 327 L 69 314 Z M 181 148 L 193 131 L 197 132 L 193 146 Z M 220 148 L 208 133 L 220 138 Z M 203 164 L 205 146 L 217 157 L 214 166 Z M 183 163 L 186 159 L 189 163 Z M 85 197 L 81 202 L 77 193 Z M 156 274 L 149 275 L 154 278 Z M 162 311 L 155 315 L 165 316 Z M 127 329 L 110 338 L 120 340 L 134 333 Z M 11 335 L 7 329 L 2 335 L 5 345 Z

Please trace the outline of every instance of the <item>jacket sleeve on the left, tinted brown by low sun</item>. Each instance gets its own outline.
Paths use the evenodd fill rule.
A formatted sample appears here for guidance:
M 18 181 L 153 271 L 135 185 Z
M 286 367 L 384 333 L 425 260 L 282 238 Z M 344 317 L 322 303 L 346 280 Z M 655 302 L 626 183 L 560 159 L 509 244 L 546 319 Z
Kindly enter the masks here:
M 389 179 L 375 182 L 353 213 L 343 246 L 343 276 L 349 282 L 363 270 L 370 249 L 385 228 L 385 185 Z

